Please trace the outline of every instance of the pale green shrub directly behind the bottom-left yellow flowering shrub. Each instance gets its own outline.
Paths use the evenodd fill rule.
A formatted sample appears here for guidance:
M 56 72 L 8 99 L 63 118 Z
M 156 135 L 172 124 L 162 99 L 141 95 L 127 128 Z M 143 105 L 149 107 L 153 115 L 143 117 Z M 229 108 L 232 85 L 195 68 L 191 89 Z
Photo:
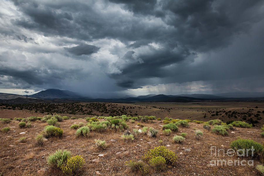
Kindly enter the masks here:
M 57 150 L 55 153 L 50 154 L 47 158 L 50 167 L 60 168 L 68 158 L 71 157 L 71 152 L 68 150 Z

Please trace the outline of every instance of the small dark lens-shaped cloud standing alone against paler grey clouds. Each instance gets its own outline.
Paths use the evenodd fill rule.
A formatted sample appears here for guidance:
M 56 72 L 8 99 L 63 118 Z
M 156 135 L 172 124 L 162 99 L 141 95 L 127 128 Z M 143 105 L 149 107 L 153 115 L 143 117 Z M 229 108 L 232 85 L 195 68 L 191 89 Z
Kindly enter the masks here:
M 80 56 L 80 55 L 90 55 L 92 53 L 97 53 L 97 51 L 100 48 L 94 45 L 83 44 L 79 46 L 74 46 L 72 48 L 64 48 L 64 49 L 67 50 L 69 53 Z

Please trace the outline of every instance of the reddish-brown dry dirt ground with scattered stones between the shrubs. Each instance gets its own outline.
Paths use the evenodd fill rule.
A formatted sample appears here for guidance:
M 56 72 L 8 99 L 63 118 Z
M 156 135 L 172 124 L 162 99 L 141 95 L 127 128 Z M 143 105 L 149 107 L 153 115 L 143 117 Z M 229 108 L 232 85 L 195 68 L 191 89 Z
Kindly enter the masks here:
M 170 104 L 144 104 L 139 106 L 157 106 L 157 107 L 168 107 Z M 175 113 L 182 113 L 182 109 L 188 109 L 188 113 L 194 110 L 197 112 L 197 108 L 207 108 L 208 109 L 223 109 L 223 108 L 234 108 L 241 109 L 247 107 L 255 107 L 258 106 L 258 110 L 264 108 L 263 104 L 242 104 L 233 106 L 234 104 L 214 104 L 208 103 L 206 104 L 208 107 L 199 107 L 201 104 L 177 104 L 177 108 L 175 109 Z M 194 107 L 190 107 L 194 106 Z M 195 107 L 197 106 L 197 107 Z M 173 105 L 174 108 L 175 105 Z M 190 109 L 193 108 L 193 109 Z M 149 109 L 149 108 L 148 108 Z M 155 108 L 158 109 L 158 108 Z M 153 109 L 152 109 L 153 110 Z M 205 111 L 205 109 L 201 109 L 199 111 Z M 159 109 L 158 111 L 164 111 L 163 109 Z M 171 110 L 170 110 L 171 111 Z M 187 111 L 187 110 L 186 110 Z M 199 112 L 198 111 L 198 112 Z M 255 111 L 255 108 L 254 108 Z M 147 112 L 149 113 L 149 112 Z M 164 112 L 165 113 L 165 112 Z M 166 113 L 168 114 L 167 110 Z M 28 117 L 28 116 L 44 116 L 42 113 L 34 113 L 34 111 L 29 110 L 12 110 L 12 109 L 3 109 L 0 110 L 0 117 L 11 118 L 14 117 Z M 61 114 L 67 115 L 67 114 Z M 68 114 L 69 116 L 73 116 Z M 138 115 L 145 115 L 144 113 Z M 156 114 L 149 114 L 156 115 Z M 74 115 L 78 118 L 84 118 L 87 115 Z M 179 117 L 168 114 L 168 116 L 177 119 Z M 186 115 L 186 116 L 189 116 Z M 185 119 L 185 115 L 180 119 Z M 216 119 L 210 118 L 211 119 Z M 102 119 L 100 119 L 101 121 Z M 193 120 L 193 118 L 192 118 Z M 198 119 L 199 120 L 199 119 Z M 203 119 L 206 121 L 205 119 Z M 152 123 L 143 123 L 144 126 L 153 127 L 159 130 L 158 136 L 156 138 L 148 137 L 144 134 L 139 134 L 134 141 L 125 142 L 121 139 L 121 135 L 123 132 L 114 131 L 108 129 L 106 132 L 90 132 L 89 138 L 76 138 L 75 131 L 70 129 L 70 126 L 75 123 L 83 122 L 86 123 L 84 119 L 70 119 L 63 120 L 60 123 L 60 128 L 64 130 L 62 138 L 49 138 L 48 141 L 45 141 L 42 147 L 38 147 L 35 145 L 34 138 L 37 134 L 43 131 L 44 127 L 48 125 L 46 122 L 35 121 L 32 123 L 30 128 L 19 128 L 18 121 L 12 120 L 10 123 L 3 124 L 0 123 L 0 128 L 10 127 L 11 130 L 8 133 L 0 132 L 0 175 L 1 176 L 11 176 L 11 175 L 41 175 L 38 174 L 37 171 L 40 169 L 45 169 L 46 172 L 44 175 L 62 175 L 60 171 L 56 171 L 54 169 L 50 169 L 47 165 L 47 156 L 51 153 L 54 153 L 58 149 L 67 149 L 72 152 L 73 155 L 82 155 L 85 160 L 84 169 L 81 175 L 98 175 L 96 171 L 98 171 L 101 175 L 132 175 L 129 172 L 129 169 L 126 167 L 125 162 L 129 160 L 140 160 L 140 157 L 145 153 L 145 151 L 154 148 L 160 145 L 170 145 L 167 147 L 168 149 L 174 151 L 177 156 L 177 163 L 174 166 L 168 166 L 166 170 L 163 172 L 153 172 L 151 171 L 149 175 L 253 175 L 257 176 L 259 173 L 255 169 L 257 164 L 261 164 L 258 157 L 255 158 L 239 158 L 238 156 L 229 157 L 227 155 L 222 156 L 214 156 L 214 153 L 211 155 L 210 148 L 212 146 L 218 149 L 224 149 L 227 151 L 229 149 L 229 145 L 232 141 L 236 140 L 237 137 L 253 139 L 259 143 L 264 142 L 264 138 L 261 138 L 260 133 L 260 124 L 259 127 L 254 128 L 236 128 L 233 130 L 235 134 L 232 134 L 229 131 L 229 135 L 219 136 L 211 133 L 211 131 L 205 130 L 202 126 L 203 124 L 197 123 L 189 123 L 189 127 L 181 127 L 179 126 L 179 131 L 172 132 L 170 136 L 164 136 L 162 132 L 162 121 L 154 120 Z M 135 123 L 131 123 L 129 121 L 127 123 L 129 125 L 129 130 L 132 131 L 136 128 Z M 261 123 L 263 124 L 263 123 Z M 142 127 L 140 128 L 142 129 Z M 204 133 L 202 140 L 197 140 L 195 138 L 194 130 L 201 130 Z M 25 132 L 25 134 L 19 134 L 21 132 Z M 181 132 L 187 133 L 186 139 L 181 144 L 172 143 L 172 138 L 174 135 L 178 135 Z M 18 139 L 21 137 L 26 137 L 26 143 L 19 143 Z M 94 139 L 106 140 L 106 144 L 108 147 L 105 150 L 98 150 L 94 144 Z M 111 142 L 110 140 L 114 139 L 115 142 Z M 163 140 L 162 143 L 159 141 Z M 148 142 L 152 144 L 149 145 Z M 222 145 L 222 146 L 221 146 Z M 190 151 L 185 151 L 185 148 L 190 148 Z M 125 154 L 116 155 L 117 152 L 127 151 Z M 104 154 L 104 157 L 99 157 L 99 154 Z M 98 158 L 99 162 L 92 162 L 92 160 Z M 211 160 L 253 160 L 254 166 L 210 166 Z M 43 174 L 42 174 L 43 175 Z

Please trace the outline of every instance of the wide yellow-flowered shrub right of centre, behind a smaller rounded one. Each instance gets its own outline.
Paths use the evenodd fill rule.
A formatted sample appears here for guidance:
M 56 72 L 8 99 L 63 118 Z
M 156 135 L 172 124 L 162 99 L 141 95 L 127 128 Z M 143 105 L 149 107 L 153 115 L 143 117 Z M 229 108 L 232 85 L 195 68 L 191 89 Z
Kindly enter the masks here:
M 142 159 L 149 161 L 152 158 L 156 158 L 158 156 L 163 157 L 166 160 L 166 164 L 173 164 L 177 160 L 177 155 L 173 151 L 168 150 L 165 146 L 159 146 L 148 150 L 142 156 Z

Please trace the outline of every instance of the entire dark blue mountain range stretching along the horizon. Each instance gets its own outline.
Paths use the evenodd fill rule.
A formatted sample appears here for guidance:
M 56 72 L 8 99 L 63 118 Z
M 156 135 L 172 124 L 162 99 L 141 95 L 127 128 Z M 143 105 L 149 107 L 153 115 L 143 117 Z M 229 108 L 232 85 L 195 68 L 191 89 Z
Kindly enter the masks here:
M 104 94 L 101 94 L 104 95 Z M 114 96 L 114 95 L 113 95 Z M 236 92 L 236 93 L 221 93 L 221 94 L 180 94 L 180 95 L 164 95 L 164 94 L 148 94 L 135 96 L 133 94 L 119 94 L 111 97 L 111 94 L 105 94 L 106 98 L 85 97 L 76 92 L 59 89 L 47 89 L 32 95 L 17 95 L 0 93 L 0 102 L 9 103 L 15 102 L 40 102 L 41 100 L 52 100 L 52 102 L 67 101 L 108 101 L 108 102 L 139 102 L 139 101 L 154 101 L 154 102 L 191 102 L 202 100 L 227 100 L 236 98 L 256 98 L 264 97 L 264 92 Z M 33 101 L 33 99 L 35 99 Z M 39 99 L 39 100 L 36 100 Z M 55 100 L 56 99 L 56 100 Z M 12 100 L 12 101 L 11 101 Z M 49 102 L 49 101 L 47 101 Z

